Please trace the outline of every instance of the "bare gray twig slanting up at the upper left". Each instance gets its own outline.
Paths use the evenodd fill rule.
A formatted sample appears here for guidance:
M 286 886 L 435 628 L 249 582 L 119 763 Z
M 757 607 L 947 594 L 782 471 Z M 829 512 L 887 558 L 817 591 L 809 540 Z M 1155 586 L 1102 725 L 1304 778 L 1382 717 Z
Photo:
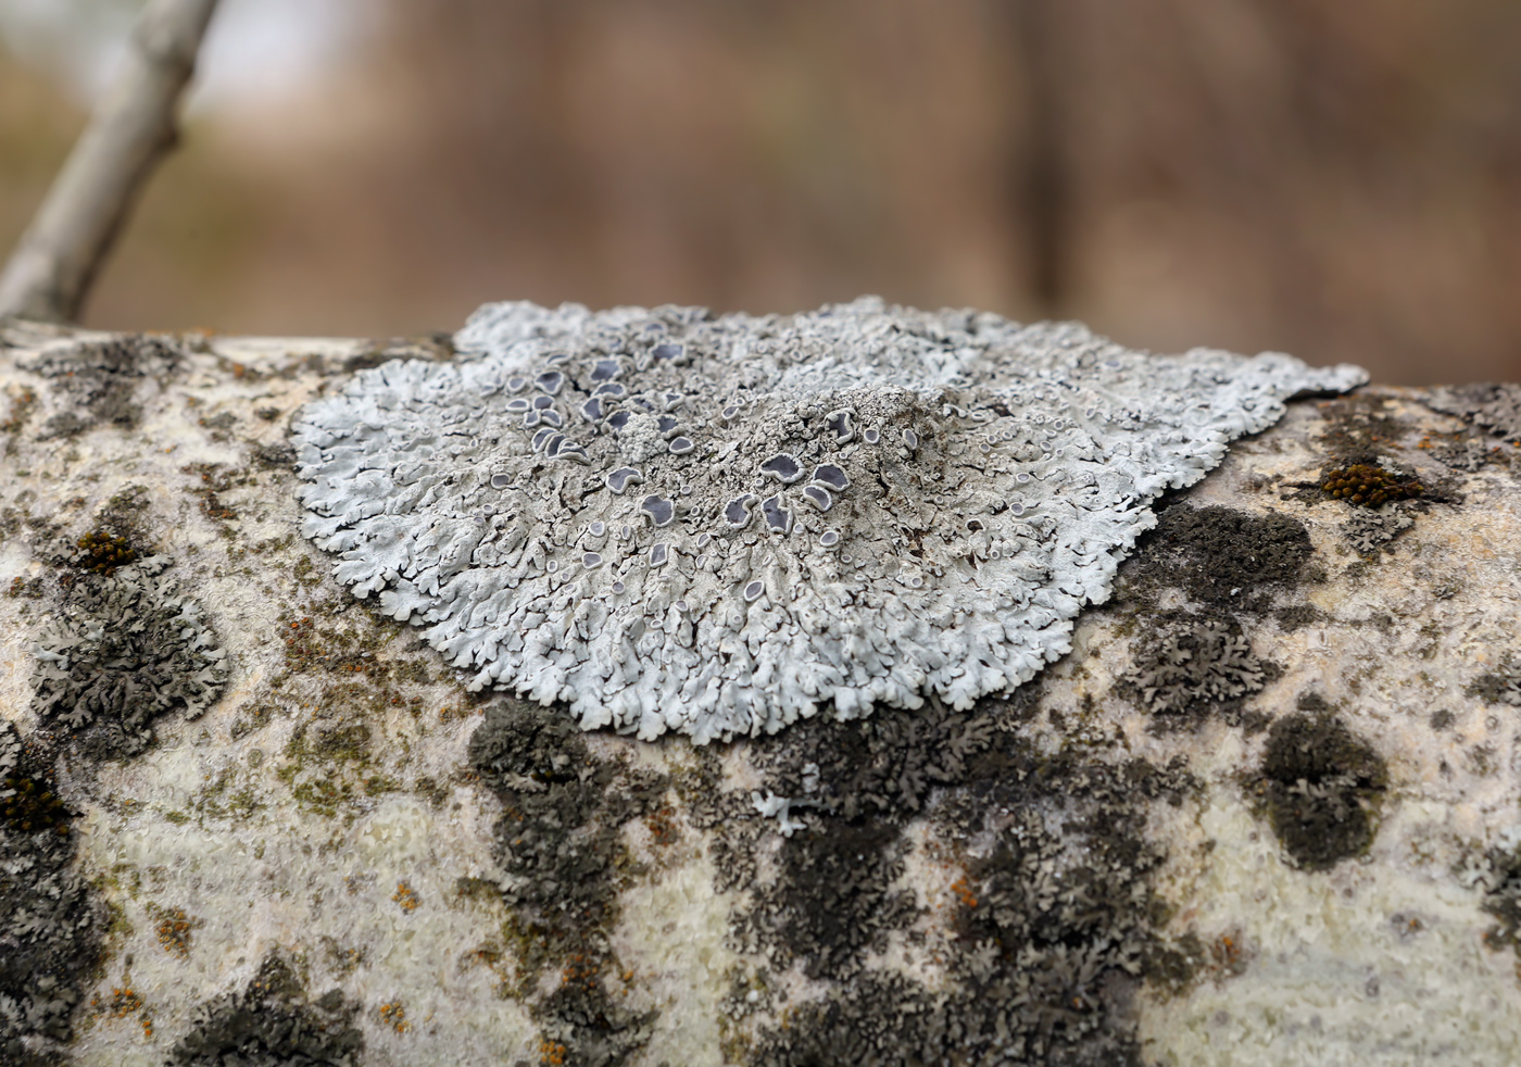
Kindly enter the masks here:
M 79 317 L 90 285 L 158 160 L 216 0 L 149 0 L 122 72 L 0 274 L 0 315 Z

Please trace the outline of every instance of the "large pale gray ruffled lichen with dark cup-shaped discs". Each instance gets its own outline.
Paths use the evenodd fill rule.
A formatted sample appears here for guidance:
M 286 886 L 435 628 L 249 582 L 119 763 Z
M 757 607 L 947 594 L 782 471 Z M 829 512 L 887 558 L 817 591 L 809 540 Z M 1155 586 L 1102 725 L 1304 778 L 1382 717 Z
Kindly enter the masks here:
M 455 341 L 301 411 L 303 533 L 473 688 L 698 743 L 1018 686 L 1161 492 L 1366 381 L 878 300 L 502 303 Z

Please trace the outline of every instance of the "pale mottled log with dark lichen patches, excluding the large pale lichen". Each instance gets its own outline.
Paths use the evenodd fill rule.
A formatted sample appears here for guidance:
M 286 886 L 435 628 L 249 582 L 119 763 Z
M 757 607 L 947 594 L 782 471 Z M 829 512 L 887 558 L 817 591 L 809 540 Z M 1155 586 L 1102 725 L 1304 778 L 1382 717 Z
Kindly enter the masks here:
M 0 1062 L 1521 1058 L 1521 390 L 1290 403 L 1010 697 L 694 747 L 300 536 L 294 412 L 447 347 L 0 339 Z

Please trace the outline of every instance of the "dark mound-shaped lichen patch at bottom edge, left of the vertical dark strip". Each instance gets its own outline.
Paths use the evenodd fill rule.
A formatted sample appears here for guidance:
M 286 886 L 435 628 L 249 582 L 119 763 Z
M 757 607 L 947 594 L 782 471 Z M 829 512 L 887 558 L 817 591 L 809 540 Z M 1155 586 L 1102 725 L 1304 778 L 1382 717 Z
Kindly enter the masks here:
M 172 1067 L 357 1067 L 364 1038 L 359 1006 L 338 989 L 309 1000 L 278 956 L 254 980 L 201 1005 L 190 1032 L 170 1050 Z

